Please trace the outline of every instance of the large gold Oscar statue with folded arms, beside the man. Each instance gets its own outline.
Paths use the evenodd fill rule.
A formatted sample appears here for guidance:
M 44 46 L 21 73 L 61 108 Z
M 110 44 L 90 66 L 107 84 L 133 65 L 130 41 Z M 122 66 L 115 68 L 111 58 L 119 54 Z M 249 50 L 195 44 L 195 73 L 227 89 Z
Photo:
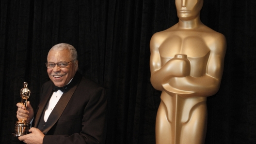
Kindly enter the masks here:
M 204 144 L 206 101 L 220 87 L 226 40 L 201 22 L 202 6 L 176 0 L 178 23 L 151 38 L 151 83 L 162 91 L 156 144 Z

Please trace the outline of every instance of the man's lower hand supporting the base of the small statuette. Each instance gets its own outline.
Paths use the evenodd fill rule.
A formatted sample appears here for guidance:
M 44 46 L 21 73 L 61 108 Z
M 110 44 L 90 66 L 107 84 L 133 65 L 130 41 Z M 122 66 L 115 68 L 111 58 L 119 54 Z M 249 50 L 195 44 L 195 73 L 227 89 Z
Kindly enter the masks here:
M 20 136 L 18 137 L 18 139 L 26 144 L 43 144 L 43 139 L 45 135 L 42 131 L 36 128 L 31 128 L 29 132 L 31 133 Z

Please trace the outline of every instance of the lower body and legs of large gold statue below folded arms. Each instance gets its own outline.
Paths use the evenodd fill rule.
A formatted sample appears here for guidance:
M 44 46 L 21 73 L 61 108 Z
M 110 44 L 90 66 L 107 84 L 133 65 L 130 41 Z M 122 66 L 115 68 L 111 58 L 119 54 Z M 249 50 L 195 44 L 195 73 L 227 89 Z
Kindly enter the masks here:
M 206 98 L 161 94 L 156 118 L 156 144 L 204 144 Z

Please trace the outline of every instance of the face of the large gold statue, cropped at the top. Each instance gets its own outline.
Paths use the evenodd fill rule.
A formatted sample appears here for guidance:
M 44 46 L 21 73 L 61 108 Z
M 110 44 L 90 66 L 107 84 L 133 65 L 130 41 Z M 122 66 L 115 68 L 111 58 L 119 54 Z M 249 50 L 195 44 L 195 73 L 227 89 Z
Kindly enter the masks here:
M 203 0 L 175 0 L 179 19 L 190 20 L 199 16 Z

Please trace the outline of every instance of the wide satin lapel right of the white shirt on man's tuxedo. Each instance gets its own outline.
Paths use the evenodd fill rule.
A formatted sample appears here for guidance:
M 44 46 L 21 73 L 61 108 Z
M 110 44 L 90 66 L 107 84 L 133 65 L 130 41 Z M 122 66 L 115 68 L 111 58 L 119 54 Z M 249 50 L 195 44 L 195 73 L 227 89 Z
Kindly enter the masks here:
M 58 121 L 58 119 L 62 115 L 62 113 L 63 113 L 63 111 L 64 111 L 68 101 L 71 99 L 73 93 L 75 92 L 77 86 L 78 85 L 75 85 L 72 88 L 70 88 L 69 91 L 67 91 L 66 93 L 63 93 L 61 99 L 57 102 L 56 106 L 54 107 L 54 109 L 52 110 L 51 114 L 49 115 L 47 123 L 45 124 L 45 127 L 44 127 L 45 129 L 42 131 L 43 133 L 47 134 L 47 132 Z M 48 101 L 46 103 L 48 103 Z M 45 104 L 45 106 L 46 106 L 46 104 Z M 42 111 L 44 111 L 45 106 L 42 108 Z M 40 113 L 42 113 L 42 112 L 40 112 Z

